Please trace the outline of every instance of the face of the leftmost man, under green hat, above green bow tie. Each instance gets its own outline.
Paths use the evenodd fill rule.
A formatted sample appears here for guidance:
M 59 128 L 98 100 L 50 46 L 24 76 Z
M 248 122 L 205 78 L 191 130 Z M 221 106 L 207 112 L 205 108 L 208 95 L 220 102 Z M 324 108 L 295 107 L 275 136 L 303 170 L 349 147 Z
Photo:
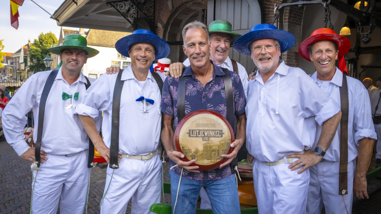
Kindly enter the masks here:
M 85 51 L 78 49 L 65 49 L 60 56 L 63 69 L 69 72 L 80 72 L 88 58 Z

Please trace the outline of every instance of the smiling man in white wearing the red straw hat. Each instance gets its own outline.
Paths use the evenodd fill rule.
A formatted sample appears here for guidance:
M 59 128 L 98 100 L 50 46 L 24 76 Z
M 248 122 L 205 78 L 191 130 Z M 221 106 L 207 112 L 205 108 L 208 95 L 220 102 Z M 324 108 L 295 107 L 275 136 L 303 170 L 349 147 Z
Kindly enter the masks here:
M 320 147 L 325 152 L 325 155 L 321 154 L 322 160 L 310 168 L 308 214 L 321 212 L 323 205 L 328 214 L 351 213 L 353 192 L 359 199 L 364 199 L 364 196 L 368 198 L 366 174 L 377 135 L 367 89 L 359 80 L 345 75 L 347 69 L 344 55 L 348 53 L 350 46 L 351 43 L 346 37 L 335 34 L 329 28 L 315 30 L 311 37 L 299 46 L 299 54 L 314 62 L 316 67 L 317 72 L 311 78 L 318 88 L 340 104 L 344 118 L 334 132 L 330 147 L 327 150 Z M 335 67 L 336 60 L 339 61 L 340 69 Z M 347 95 L 342 90 L 346 90 Z M 345 97 L 349 107 L 345 105 Z M 319 147 L 317 144 L 323 136 L 323 131 L 324 126 L 319 124 L 311 153 L 314 148 Z M 348 142 L 345 142 L 345 138 Z M 296 155 L 291 157 L 298 158 Z M 300 164 L 295 162 L 291 166 L 298 168 Z M 347 183 L 344 182 L 346 179 Z

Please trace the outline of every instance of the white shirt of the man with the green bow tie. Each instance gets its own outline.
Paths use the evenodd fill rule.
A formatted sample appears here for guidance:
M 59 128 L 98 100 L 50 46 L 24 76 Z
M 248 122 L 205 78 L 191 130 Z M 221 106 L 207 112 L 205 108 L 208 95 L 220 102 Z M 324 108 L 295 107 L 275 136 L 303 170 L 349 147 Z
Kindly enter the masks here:
M 41 71 L 29 77 L 2 112 L 2 125 L 6 140 L 19 156 L 30 148 L 23 140 L 25 136 L 21 132 L 27 121 L 25 114 L 32 107 L 35 119 L 33 140 L 37 141 L 41 94 L 50 72 Z M 91 84 L 95 81 L 91 78 L 89 80 Z M 81 102 L 85 94 L 84 83 L 87 83 L 86 78 L 80 73 L 77 81 L 69 85 L 62 76 L 62 68 L 59 69 L 45 106 L 42 151 L 54 155 L 69 155 L 89 148 L 89 139 L 81 121 L 77 115 L 73 114 L 75 105 Z M 63 92 L 72 97 L 63 100 Z M 79 92 L 78 100 L 74 100 L 76 92 Z M 72 104 L 74 106 L 65 108 Z M 96 123 L 98 129 L 100 122 L 101 120 L 98 120 Z

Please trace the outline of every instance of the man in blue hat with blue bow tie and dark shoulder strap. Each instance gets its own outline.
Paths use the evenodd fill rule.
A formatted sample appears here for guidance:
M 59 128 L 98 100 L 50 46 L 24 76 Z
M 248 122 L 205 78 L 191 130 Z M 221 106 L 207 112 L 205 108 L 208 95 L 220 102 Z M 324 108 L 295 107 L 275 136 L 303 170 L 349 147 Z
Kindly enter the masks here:
M 170 48 L 167 42 L 143 29 L 120 39 L 115 48 L 131 58 L 131 65 L 118 74 L 100 76 L 86 91 L 76 113 L 98 153 L 110 163 L 101 213 L 126 213 L 132 198 L 132 214 L 149 214 L 150 206 L 160 203 L 161 198 L 163 84 L 163 79 L 149 67 L 155 58 L 166 57 Z M 98 111 L 104 112 L 104 139 L 94 123 Z

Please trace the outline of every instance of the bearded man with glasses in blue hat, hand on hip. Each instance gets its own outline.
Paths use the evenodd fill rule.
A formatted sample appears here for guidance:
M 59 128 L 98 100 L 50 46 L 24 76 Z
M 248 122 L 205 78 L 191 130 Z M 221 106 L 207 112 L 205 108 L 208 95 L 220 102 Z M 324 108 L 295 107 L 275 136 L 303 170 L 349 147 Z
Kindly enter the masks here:
M 234 43 L 234 50 L 251 55 L 258 67 L 248 85 L 246 132 L 260 214 L 306 212 L 309 167 L 322 158 L 307 151 L 313 147 L 309 129 L 315 130 L 315 123 L 306 118 L 323 125 L 318 147 L 324 151 L 340 121 L 338 104 L 303 70 L 279 60 L 294 44 L 291 33 L 271 24 L 255 25 Z M 292 154 L 299 155 L 293 158 Z M 292 164 L 303 167 L 292 168 Z

